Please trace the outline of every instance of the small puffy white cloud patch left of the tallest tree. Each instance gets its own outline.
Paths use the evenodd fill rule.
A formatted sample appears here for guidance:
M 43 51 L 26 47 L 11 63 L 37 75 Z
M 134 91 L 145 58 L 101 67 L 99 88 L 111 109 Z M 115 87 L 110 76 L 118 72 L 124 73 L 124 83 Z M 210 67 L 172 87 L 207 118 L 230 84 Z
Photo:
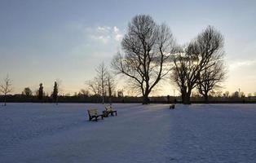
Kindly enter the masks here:
M 70 27 L 70 29 L 76 34 L 76 38 L 79 38 L 79 42 L 72 46 L 68 54 L 80 60 L 95 57 L 98 60 L 111 60 L 121 46 L 123 30 L 115 25 L 86 26 L 82 24 L 74 28 Z

